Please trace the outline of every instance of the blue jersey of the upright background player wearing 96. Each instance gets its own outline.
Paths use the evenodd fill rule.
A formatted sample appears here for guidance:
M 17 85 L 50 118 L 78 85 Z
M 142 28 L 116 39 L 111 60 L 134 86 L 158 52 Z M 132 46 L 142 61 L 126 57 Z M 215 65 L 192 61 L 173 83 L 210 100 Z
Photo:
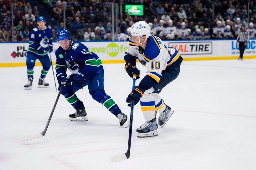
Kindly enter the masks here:
M 44 31 L 37 26 L 31 31 L 28 54 L 43 56 L 47 54 L 47 47 L 52 46 L 52 28 L 45 26 Z

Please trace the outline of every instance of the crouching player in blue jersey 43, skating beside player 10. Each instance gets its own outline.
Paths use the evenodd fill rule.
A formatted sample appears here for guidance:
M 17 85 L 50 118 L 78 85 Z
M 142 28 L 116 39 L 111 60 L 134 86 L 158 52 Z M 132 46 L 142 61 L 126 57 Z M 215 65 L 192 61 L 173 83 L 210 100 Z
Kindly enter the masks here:
M 61 84 L 65 84 L 61 94 L 76 109 L 69 115 L 71 121 L 88 121 L 84 104 L 75 94 L 76 91 L 88 85 L 92 98 L 105 106 L 119 119 L 120 126 L 128 127 L 130 120 L 121 112 L 114 100 L 104 91 L 104 70 L 98 55 L 89 52 L 88 48 L 78 41 L 72 41 L 68 30 L 57 33 L 60 47 L 56 50 L 56 76 Z M 66 71 L 73 74 L 67 77 Z

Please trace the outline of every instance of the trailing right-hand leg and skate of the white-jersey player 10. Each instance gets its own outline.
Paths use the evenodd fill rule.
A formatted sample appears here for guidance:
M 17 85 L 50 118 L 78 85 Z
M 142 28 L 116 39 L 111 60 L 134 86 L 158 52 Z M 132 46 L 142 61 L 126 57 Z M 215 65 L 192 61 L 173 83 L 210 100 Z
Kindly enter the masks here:
M 149 90 L 153 91 L 152 94 L 156 96 L 157 93 L 160 93 L 166 85 L 175 80 L 178 77 L 179 73 L 180 66 L 177 66 L 171 70 L 162 71 L 162 77 L 159 83 Z M 170 119 L 174 111 L 171 109 L 171 107 L 164 103 L 164 100 L 162 100 L 159 95 L 157 95 L 155 103 L 155 108 L 159 113 L 158 125 L 163 127 L 165 123 Z

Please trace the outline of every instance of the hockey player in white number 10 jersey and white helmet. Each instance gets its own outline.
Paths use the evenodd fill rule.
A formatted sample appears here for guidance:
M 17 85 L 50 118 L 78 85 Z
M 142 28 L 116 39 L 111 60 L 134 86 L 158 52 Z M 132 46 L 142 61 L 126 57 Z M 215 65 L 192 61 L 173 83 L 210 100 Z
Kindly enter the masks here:
M 140 78 L 136 60 L 146 67 L 147 73 L 128 95 L 126 102 L 131 106 L 140 101 L 146 122 L 138 129 L 137 137 L 157 136 L 158 125 L 163 127 L 173 113 L 171 107 L 158 95 L 162 89 L 178 77 L 182 57 L 175 48 L 167 47 L 163 41 L 150 34 L 150 27 L 145 21 L 132 25 L 129 33 L 129 47 L 125 52 L 125 70 L 132 78 Z M 159 113 L 156 122 L 156 112 Z

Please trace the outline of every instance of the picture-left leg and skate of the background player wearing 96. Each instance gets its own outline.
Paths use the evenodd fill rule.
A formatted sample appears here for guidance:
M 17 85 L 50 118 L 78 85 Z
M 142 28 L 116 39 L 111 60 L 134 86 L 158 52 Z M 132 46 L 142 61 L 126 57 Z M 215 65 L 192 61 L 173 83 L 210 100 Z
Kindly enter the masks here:
M 32 82 L 33 82 L 33 76 L 34 76 L 34 67 L 36 63 L 36 57 L 32 54 L 27 54 L 27 75 L 28 75 L 28 83 L 24 85 L 25 90 L 29 90 L 32 87 Z

